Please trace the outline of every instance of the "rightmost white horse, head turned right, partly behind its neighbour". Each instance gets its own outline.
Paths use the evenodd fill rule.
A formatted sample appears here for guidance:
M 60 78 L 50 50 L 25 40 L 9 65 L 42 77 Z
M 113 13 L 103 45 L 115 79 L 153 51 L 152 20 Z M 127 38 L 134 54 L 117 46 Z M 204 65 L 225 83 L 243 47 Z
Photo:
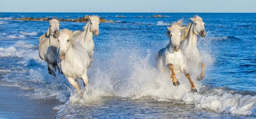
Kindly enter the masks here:
M 201 17 L 196 15 L 190 18 L 192 22 L 188 23 L 183 29 L 183 35 L 181 39 L 184 39 L 181 43 L 181 49 L 186 56 L 189 64 L 196 64 L 201 66 L 202 72 L 198 75 L 197 80 L 200 81 L 204 78 L 205 64 L 201 62 L 200 53 L 197 48 L 198 35 L 205 37 L 206 31 L 204 30 L 204 22 Z

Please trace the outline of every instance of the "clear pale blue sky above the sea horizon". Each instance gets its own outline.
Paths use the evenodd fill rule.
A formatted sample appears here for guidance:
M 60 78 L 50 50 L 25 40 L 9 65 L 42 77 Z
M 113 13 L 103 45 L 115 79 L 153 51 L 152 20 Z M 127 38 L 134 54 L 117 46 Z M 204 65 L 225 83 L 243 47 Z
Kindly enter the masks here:
M 0 0 L 0 12 L 256 13 L 256 0 Z

